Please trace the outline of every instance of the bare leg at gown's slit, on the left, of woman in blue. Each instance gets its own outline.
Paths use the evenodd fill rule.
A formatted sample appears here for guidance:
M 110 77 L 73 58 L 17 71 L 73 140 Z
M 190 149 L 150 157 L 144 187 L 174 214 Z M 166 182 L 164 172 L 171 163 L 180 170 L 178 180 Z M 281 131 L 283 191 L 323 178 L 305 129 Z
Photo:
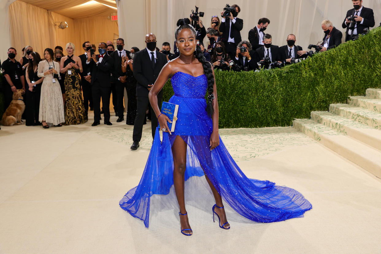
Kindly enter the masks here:
M 176 192 L 176 198 L 179 203 L 180 212 L 186 214 L 185 198 L 184 198 L 184 174 L 187 160 L 187 144 L 184 140 L 177 136 L 172 145 L 173 155 L 173 185 Z M 188 215 L 180 215 L 181 229 L 191 228 L 188 221 Z M 186 234 L 192 234 L 191 230 L 184 231 Z

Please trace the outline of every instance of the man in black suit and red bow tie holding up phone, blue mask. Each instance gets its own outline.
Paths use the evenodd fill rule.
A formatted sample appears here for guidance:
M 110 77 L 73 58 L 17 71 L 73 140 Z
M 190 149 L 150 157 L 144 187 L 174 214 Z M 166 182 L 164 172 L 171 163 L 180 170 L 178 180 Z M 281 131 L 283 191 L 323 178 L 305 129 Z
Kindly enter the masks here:
M 105 125 L 110 123 L 110 74 L 113 68 L 112 58 L 107 55 L 107 45 L 105 42 L 99 43 L 99 55 L 93 54 L 86 64 L 90 65 L 91 69 L 91 89 L 93 92 L 94 103 L 94 123 L 91 126 L 97 126 L 101 120 L 101 98 L 103 107 L 103 117 Z M 88 51 L 90 55 L 90 50 Z

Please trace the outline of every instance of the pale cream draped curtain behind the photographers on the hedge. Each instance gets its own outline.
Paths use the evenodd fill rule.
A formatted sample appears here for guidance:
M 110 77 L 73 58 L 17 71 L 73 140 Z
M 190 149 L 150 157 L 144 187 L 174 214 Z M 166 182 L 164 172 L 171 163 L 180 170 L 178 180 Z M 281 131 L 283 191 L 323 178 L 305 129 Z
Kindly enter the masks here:
M 157 37 L 158 47 L 161 43 L 174 42 L 174 30 L 179 18 L 189 18 L 195 5 L 205 12 L 202 19 L 206 28 L 210 27 L 212 15 L 221 19 L 221 11 L 226 2 L 219 0 L 116 0 L 118 6 L 119 34 L 125 38 L 126 48 L 137 46 L 144 48 L 144 37 L 153 32 Z M 345 32 L 341 24 L 347 10 L 353 8 L 351 0 L 235 0 L 241 8 L 238 18 L 243 19 L 242 40 L 248 40 L 248 32 L 258 23 L 259 18 L 269 18 L 270 24 L 266 33 L 272 35 L 274 45 L 286 45 L 288 34 L 296 35 L 296 44 L 307 49 L 309 44 L 316 44 L 323 38 L 321 23 L 329 19 L 333 26 Z M 363 0 L 365 7 L 375 13 L 375 27 L 381 21 L 381 0 Z M 343 36 L 344 42 L 344 36 Z M 208 39 L 205 37 L 204 45 Z

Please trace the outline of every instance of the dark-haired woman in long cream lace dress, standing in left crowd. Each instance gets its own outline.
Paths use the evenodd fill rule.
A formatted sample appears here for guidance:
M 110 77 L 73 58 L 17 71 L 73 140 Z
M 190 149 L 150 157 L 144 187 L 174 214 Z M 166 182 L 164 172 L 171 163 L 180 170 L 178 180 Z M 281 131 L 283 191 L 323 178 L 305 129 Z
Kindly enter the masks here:
M 58 83 L 59 63 L 53 61 L 53 50 L 44 50 L 45 59 L 38 64 L 38 77 L 45 77 L 41 86 L 40 116 L 43 128 L 50 125 L 62 126 L 65 122 L 64 103 Z M 56 76 L 56 77 L 54 77 Z

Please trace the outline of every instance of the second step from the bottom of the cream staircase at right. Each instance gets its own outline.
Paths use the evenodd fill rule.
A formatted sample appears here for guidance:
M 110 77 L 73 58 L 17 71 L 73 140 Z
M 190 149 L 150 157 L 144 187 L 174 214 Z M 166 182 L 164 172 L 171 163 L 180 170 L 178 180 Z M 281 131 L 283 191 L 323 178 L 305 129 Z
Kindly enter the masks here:
M 311 119 L 381 151 L 381 131 L 378 129 L 327 111 L 311 112 Z

